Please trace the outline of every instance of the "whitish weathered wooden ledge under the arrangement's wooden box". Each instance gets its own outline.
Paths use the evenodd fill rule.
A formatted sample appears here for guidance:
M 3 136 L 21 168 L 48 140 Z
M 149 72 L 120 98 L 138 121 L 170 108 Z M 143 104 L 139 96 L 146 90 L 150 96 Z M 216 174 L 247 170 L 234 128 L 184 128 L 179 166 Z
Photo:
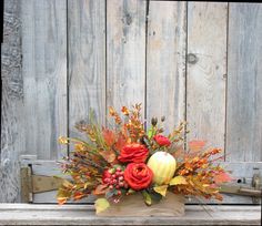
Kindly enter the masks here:
M 208 212 L 206 212 L 206 210 Z M 98 217 L 91 205 L 0 204 L 0 225 L 261 225 L 261 206 L 187 205 L 183 217 Z

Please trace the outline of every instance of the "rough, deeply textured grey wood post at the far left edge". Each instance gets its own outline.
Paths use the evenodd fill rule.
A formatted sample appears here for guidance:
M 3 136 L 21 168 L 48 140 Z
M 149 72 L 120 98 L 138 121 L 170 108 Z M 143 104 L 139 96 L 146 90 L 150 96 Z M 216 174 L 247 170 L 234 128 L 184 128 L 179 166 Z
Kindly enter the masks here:
M 4 1 L 1 44 L 0 203 L 20 201 L 19 154 L 23 142 L 23 82 L 21 70 L 21 2 Z

